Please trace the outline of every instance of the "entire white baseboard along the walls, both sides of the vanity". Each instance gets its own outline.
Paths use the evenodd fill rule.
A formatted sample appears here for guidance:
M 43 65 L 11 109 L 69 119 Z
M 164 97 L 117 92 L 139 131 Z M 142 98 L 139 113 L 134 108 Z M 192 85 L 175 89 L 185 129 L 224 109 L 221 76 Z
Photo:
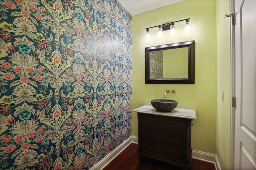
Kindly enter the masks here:
M 126 141 L 124 141 L 121 145 L 116 147 L 116 149 L 112 150 L 107 156 L 105 156 L 102 160 L 100 160 L 97 164 L 92 166 L 90 170 L 101 170 L 105 166 L 109 164 L 118 154 L 120 154 L 130 143 L 138 143 L 138 137 L 130 136 Z M 210 162 L 215 165 L 216 170 L 220 169 L 220 164 L 218 162 L 218 158 L 215 154 L 208 154 L 205 152 L 200 152 L 196 150 L 192 150 L 192 158 L 197 160 L 203 160 L 205 162 Z

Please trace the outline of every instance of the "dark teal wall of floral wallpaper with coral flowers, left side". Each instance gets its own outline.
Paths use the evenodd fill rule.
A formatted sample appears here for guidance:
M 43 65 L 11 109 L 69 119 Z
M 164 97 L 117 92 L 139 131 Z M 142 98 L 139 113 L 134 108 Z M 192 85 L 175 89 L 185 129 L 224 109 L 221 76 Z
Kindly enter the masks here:
M 0 0 L 0 169 L 89 169 L 131 135 L 117 0 Z

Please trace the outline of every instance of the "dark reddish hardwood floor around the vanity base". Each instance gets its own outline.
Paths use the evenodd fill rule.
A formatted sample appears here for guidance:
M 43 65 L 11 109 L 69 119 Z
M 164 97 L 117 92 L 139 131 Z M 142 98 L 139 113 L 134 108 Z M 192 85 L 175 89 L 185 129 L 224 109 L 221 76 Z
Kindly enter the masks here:
M 150 158 L 140 159 L 137 153 L 138 145 L 131 143 L 103 170 L 181 170 L 180 167 L 153 160 Z M 191 170 L 215 170 L 213 163 L 192 159 Z

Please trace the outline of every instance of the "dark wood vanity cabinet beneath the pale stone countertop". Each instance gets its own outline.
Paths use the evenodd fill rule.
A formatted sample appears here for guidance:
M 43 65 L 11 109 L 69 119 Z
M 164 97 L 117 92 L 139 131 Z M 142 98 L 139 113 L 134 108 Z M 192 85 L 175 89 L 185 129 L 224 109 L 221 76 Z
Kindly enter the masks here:
M 138 154 L 190 169 L 191 121 L 138 113 Z

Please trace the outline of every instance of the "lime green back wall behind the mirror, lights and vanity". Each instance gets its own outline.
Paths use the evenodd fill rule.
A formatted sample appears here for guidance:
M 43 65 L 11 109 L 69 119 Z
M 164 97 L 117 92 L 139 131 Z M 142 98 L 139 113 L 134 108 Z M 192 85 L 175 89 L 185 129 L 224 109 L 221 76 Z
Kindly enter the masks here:
M 176 23 L 176 35 L 169 31 L 156 37 L 156 28 L 150 29 L 146 41 L 145 28 L 171 21 L 191 18 L 192 31 L 184 34 L 184 23 Z M 145 47 L 195 40 L 195 84 L 145 84 Z M 180 108 L 195 109 L 192 149 L 216 154 L 216 1 L 184 0 L 169 6 L 132 16 L 132 110 L 150 105 L 150 100 L 164 98 L 178 101 Z M 137 113 L 132 112 L 132 135 L 138 135 Z

